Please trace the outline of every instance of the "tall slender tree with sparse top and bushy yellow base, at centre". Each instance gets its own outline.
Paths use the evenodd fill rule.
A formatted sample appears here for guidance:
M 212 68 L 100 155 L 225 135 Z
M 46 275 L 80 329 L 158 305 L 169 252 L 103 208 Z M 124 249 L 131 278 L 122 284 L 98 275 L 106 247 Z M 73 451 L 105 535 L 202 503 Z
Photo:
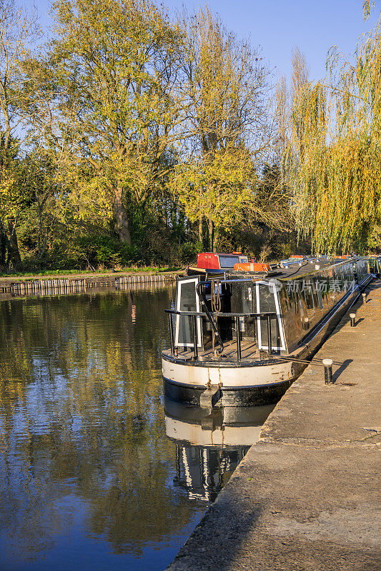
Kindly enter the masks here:
M 213 249 L 245 212 L 259 211 L 252 188 L 271 141 L 268 71 L 249 43 L 237 40 L 207 8 L 183 15 L 179 25 L 186 37 L 181 87 L 186 144 L 172 185 L 187 216 L 198 221 L 200 243 L 207 223 Z

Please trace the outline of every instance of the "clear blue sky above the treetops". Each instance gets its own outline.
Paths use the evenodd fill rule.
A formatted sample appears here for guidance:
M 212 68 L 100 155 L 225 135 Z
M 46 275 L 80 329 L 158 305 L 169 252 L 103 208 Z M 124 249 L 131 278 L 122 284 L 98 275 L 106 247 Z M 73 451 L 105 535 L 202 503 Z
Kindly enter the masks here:
M 198 0 L 162 2 L 170 11 L 183 4 L 189 10 L 200 5 Z M 35 0 L 35 4 L 41 23 L 49 26 L 50 0 Z M 292 49 L 298 46 L 315 80 L 325 76 L 330 47 L 335 45 L 342 53 L 352 54 L 357 39 L 376 24 L 381 9 L 381 0 L 376 0 L 376 9 L 364 22 L 362 0 L 209 0 L 207 4 L 229 29 L 238 36 L 249 36 L 252 45 L 260 47 L 275 74 L 290 78 Z

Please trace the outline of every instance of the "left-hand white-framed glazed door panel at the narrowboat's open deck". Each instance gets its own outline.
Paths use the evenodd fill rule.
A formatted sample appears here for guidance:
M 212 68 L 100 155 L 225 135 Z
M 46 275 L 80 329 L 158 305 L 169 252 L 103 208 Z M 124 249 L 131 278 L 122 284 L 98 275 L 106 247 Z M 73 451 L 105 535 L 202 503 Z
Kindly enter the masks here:
M 177 282 L 176 291 L 176 309 L 177 311 L 197 311 L 199 312 L 199 297 L 196 293 L 196 285 L 199 283 L 197 278 L 179 280 Z M 201 319 L 197 318 L 197 345 L 201 346 Z M 179 347 L 193 347 L 193 328 L 192 318 L 188 315 L 176 316 L 175 328 L 175 345 Z

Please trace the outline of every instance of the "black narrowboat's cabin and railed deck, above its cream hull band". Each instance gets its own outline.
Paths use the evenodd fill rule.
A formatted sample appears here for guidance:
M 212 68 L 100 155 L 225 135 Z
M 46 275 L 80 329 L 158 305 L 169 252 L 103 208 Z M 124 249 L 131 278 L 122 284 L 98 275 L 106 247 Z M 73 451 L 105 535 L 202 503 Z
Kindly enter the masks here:
M 233 262 L 237 268 L 234 258 L 244 256 L 199 254 L 200 265 L 211 267 L 178 279 L 174 308 L 178 351 L 191 352 L 197 345 L 204 356 L 234 353 L 238 360 L 243 355 L 259 358 L 262 351 L 287 355 L 348 295 L 351 284 L 369 273 L 367 258 L 355 263 L 310 258 L 296 268 L 284 264 L 267 273 L 223 270 L 222 265 Z

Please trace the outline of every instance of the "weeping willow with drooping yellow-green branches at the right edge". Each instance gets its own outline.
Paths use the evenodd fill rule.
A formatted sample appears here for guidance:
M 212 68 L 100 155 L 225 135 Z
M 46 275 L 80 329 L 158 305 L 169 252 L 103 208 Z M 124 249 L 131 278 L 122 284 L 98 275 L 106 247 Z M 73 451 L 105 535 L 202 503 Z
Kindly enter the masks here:
M 380 22 L 355 64 L 328 59 L 330 82 L 304 81 L 293 94 L 287 151 L 298 230 L 315 251 L 367 251 L 381 224 Z

